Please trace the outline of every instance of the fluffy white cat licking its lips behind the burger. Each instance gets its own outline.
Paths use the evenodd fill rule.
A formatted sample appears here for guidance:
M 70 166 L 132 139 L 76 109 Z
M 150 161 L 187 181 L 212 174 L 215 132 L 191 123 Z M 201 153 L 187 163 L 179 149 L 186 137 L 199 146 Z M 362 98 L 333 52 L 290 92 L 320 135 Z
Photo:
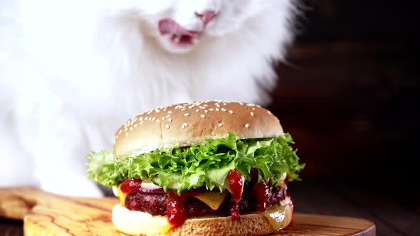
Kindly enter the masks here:
M 112 148 L 138 112 L 264 104 L 295 11 L 293 0 L 0 0 L 0 186 L 99 196 L 85 154 Z

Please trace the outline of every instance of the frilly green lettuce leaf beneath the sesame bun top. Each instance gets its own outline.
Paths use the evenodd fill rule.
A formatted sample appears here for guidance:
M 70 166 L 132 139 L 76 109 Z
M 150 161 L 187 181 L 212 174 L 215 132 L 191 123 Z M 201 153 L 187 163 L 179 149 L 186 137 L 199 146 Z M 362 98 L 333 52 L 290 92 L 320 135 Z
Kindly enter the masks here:
M 229 133 L 223 139 L 207 139 L 204 144 L 157 149 L 147 154 L 114 158 L 112 150 L 87 155 L 88 178 L 104 185 L 117 186 L 125 178 L 153 181 L 178 193 L 201 186 L 226 189 L 226 177 L 237 168 L 251 181 L 252 168 L 258 169 L 258 181 L 280 183 L 284 173 L 290 181 L 300 180 L 304 167 L 299 163 L 290 134 L 272 139 L 238 139 Z

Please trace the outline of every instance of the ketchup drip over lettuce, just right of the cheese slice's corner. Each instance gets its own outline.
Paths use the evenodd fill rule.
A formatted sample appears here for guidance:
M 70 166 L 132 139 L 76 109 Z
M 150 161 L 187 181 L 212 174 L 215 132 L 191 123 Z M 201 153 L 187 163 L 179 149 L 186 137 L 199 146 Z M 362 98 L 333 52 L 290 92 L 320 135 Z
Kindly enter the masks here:
M 231 170 L 228 174 L 229 190 L 231 191 L 231 218 L 232 220 L 239 220 L 239 208 L 238 203 L 242 197 L 243 191 L 243 178 L 242 174 L 237 170 Z

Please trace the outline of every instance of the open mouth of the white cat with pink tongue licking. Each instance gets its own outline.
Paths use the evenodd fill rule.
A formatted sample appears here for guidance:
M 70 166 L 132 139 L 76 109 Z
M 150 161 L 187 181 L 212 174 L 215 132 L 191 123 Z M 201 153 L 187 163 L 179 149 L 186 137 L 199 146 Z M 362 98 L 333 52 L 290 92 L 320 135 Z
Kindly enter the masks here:
M 159 32 L 162 36 L 169 36 L 170 41 L 179 47 L 189 47 L 199 41 L 200 33 L 189 31 L 171 18 L 159 21 Z

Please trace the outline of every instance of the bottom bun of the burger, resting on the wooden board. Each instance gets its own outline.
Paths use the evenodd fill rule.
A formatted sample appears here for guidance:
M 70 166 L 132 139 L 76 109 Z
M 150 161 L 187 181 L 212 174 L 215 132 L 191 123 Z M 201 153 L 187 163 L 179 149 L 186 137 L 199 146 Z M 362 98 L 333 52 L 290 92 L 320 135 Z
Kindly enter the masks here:
M 112 210 L 112 222 L 118 231 L 127 235 L 268 235 L 275 231 L 271 221 L 277 222 L 280 229 L 292 221 L 290 205 L 281 209 L 284 214 L 271 211 L 269 215 L 274 218 L 271 220 L 258 213 L 241 215 L 240 220 L 231 220 L 230 216 L 189 218 L 182 225 L 171 228 L 164 216 L 128 210 L 117 204 Z

